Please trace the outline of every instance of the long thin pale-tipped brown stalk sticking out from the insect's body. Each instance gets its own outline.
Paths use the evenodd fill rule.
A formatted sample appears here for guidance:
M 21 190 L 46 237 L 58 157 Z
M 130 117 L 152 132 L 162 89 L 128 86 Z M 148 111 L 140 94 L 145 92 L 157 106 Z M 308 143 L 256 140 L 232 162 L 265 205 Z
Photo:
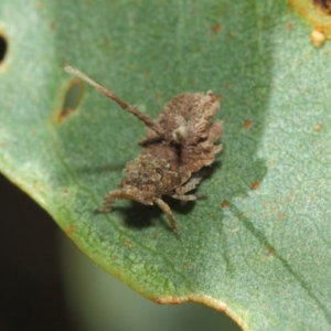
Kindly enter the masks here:
M 87 75 L 85 75 L 84 73 L 82 73 L 77 68 L 71 66 L 70 64 L 65 64 L 64 65 L 64 71 L 66 73 L 71 74 L 71 75 L 74 75 L 74 76 L 81 78 L 82 81 L 88 83 L 95 89 L 97 89 L 98 92 L 100 92 L 105 96 L 107 96 L 108 98 L 110 98 L 114 102 L 116 102 L 124 110 L 126 110 L 126 111 L 135 115 L 136 117 L 138 117 L 147 127 L 149 127 L 150 129 L 152 129 L 153 131 L 156 131 L 159 136 L 161 136 L 161 137 L 164 136 L 163 128 L 157 121 L 154 121 L 153 119 L 151 119 L 146 114 L 141 113 L 137 107 L 127 104 L 125 100 L 122 100 L 120 97 L 118 97 L 111 90 L 109 90 L 106 87 L 97 84 L 96 82 L 94 82 L 93 79 L 90 79 Z

